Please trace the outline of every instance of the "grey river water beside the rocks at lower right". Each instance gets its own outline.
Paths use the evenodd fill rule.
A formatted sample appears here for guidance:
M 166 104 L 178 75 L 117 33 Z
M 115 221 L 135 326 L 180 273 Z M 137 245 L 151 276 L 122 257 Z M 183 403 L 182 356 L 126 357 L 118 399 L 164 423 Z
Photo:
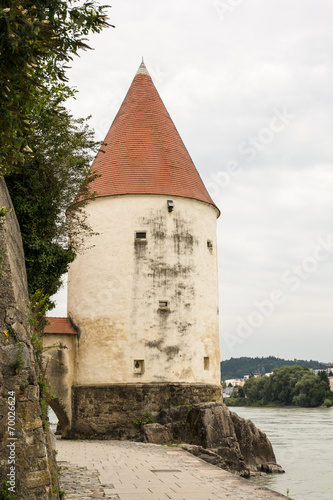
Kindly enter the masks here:
M 251 481 L 295 500 L 333 499 L 333 407 L 230 410 L 267 434 L 286 471 Z

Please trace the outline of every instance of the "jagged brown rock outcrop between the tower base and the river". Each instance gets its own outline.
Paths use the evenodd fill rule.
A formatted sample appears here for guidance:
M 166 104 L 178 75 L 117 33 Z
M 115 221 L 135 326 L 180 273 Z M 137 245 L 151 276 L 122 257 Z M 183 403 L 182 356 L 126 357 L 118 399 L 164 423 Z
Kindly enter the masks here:
M 172 407 L 157 418 L 161 426 L 154 428 L 155 441 L 149 440 L 149 428 L 154 424 L 143 428 L 147 442 L 157 442 L 156 433 L 166 436 L 167 431 L 173 440 L 186 443 L 194 455 L 244 477 L 259 471 L 283 472 L 266 434 L 223 403 Z

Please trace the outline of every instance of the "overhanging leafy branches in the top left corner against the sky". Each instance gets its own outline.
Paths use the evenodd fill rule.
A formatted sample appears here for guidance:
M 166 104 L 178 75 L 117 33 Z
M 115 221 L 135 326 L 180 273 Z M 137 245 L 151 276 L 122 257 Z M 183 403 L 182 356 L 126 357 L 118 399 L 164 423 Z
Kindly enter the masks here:
M 31 150 L 32 118 L 43 94 L 68 96 L 69 61 L 88 33 L 109 26 L 106 6 L 94 0 L 0 0 L 0 172 Z M 42 97 L 41 95 L 42 94 Z

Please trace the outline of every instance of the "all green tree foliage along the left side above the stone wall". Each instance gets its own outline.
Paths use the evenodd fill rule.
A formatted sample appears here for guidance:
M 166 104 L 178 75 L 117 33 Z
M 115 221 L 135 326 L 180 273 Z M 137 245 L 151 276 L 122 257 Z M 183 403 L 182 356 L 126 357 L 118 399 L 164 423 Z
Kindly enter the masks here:
M 66 70 L 89 48 L 86 36 L 106 26 L 106 6 L 95 0 L 0 0 L 0 175 L 21 227 L 30 294 L 58 290 L 91 232 L 82 208 L 93 196 L 97 143 L 64 108 L 74 94 Z

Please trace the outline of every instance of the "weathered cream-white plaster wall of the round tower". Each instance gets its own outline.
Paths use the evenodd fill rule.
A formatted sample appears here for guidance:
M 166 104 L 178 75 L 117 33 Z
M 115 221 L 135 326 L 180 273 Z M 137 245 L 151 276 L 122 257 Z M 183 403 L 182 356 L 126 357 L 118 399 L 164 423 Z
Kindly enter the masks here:
M 87 213 L 99 235 L 68 276 L 68 315 L 80 329 L 75 384 L 220 384 L 217 210 L 124 195 L 97 198 Z M 144 373 L 134 373 L 134 360 L 144 360 Z

